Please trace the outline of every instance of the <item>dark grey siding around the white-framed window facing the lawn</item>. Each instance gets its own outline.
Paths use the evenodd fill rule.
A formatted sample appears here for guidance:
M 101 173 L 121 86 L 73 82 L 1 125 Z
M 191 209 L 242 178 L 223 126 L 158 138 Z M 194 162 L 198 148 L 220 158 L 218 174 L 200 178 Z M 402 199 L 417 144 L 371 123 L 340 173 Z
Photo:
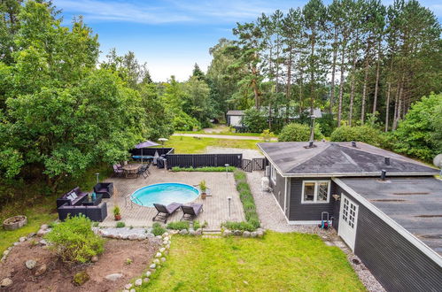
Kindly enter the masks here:
M 333 216 L 335 199 L 334 183 L 330 186 L 330 203 L 328 204 L 301 204 L 302 181 L 327 181 L 327 178 L 291 178 L 290 182 L 290 216 L 291 221 L 321 220 L 322 211 L 328 211 L 330 218 Z

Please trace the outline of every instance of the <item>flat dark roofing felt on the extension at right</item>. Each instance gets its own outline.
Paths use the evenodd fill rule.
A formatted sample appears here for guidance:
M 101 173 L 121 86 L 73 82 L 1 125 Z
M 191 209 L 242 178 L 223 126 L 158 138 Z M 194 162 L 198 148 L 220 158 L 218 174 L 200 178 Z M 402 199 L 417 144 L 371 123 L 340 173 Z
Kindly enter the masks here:
M 340 181 L 442 255 L 442 181 L 433 177 Z

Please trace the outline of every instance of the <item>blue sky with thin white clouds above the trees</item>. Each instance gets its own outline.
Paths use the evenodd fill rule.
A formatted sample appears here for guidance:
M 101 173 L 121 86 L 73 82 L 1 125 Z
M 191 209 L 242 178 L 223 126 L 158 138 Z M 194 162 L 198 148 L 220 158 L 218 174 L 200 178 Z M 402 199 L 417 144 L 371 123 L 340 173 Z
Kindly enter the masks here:
M 330 0 L 331 1 L 331 0 Z M 324 1 L 325 4 L 330 1 Z M 135 52 L 140 63 L 146 62 L 153 81 L 178 81 L 189 78 L 198 63 L 203 71 L 210 65 L 209 48 L 222 37 L 233 39 L 236 23 L 252 21 L 261 13 L 306 4 L 306 0 L 54 0 L 62 10 L 67 26 L 75 16 L 98 35 L 100 59 L 115 48 L 119 55 Z M 392 0 L 382 1 L 384 4 Z M 421 0 L 440 21 L 442 2 Z

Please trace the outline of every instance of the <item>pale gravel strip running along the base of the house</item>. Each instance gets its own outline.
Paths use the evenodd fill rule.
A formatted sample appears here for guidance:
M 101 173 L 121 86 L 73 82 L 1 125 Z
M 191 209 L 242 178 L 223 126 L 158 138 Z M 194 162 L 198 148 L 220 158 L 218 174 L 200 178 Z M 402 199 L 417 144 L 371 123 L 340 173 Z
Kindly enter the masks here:
M 252 190 L 256 209 L 261 221 L 261 227 L 277 232 L 318 234 L 322 237 L 325 244 L 329 246 L 337 246 L 345 252 L 354 272 L 358 275 L 359 279 L 368 289 L 368 291 L 385 291 L 379 281 L 376 280 L 375 276 L 373 276 L 368 268 L 361 262 L 361 259 L 354 255 L 352 250 L 345 245 L 345 242 L 343 242 L 342 239 L 337 235 L 335 229 L 330 229 L 327 231 L 322 230 L 314 225 L 289 225 L 283 215 L 283 211 L 276 203 L 273 194 L 261 190 L 261 178 L 263 175 L 264 172 L 247 173 L 247 181 Z

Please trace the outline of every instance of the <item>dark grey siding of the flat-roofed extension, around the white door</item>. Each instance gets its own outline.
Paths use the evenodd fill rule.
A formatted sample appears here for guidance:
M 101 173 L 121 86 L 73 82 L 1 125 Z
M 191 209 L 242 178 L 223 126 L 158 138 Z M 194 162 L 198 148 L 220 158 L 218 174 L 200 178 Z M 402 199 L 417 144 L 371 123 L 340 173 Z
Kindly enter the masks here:
M 359 204 L 354 254 L 361 258 L 386 290 L 442 290 L 442 267 L 353 196 L 338 186 L 336 191 Z

